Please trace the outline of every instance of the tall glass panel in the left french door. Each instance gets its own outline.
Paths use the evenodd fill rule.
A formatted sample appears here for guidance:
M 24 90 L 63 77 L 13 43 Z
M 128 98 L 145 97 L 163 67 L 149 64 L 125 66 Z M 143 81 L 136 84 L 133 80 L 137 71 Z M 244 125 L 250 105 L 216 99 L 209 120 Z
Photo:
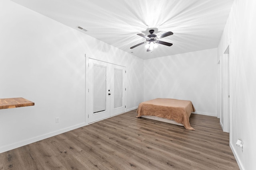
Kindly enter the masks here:
M 106 110 L 106 67 L 93 67 L 93 113 Z

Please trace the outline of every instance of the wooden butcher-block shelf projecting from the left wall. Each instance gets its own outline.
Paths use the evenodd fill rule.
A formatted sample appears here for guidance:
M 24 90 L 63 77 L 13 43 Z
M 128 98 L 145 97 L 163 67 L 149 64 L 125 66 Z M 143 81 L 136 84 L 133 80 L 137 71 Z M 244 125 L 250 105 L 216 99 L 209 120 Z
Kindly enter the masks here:
M 34 106 L 35 103 L 24 98 L 0 99 L 0 109 L 10 109 L 15 107 Z

